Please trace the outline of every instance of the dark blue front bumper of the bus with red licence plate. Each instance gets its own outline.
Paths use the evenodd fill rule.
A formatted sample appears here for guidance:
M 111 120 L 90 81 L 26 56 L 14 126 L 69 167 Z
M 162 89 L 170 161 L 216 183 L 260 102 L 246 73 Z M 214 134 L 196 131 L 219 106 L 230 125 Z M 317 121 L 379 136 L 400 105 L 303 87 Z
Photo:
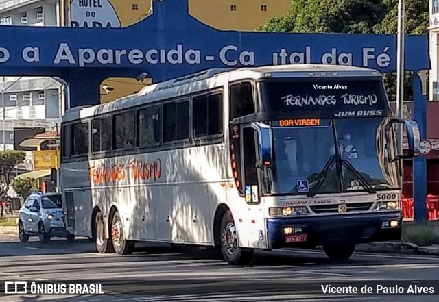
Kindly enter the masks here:
M 401 212 L 270 218 L 267 220 L 268 245 L 270 249 L 279 249 L 316 247 L 327 242 L 399 240 L 402 220 Z M 398 221 L 398 226 L 391 227 L 391 221 Z M 285 228 L 291 228 L 292 234 L 284 234 Z

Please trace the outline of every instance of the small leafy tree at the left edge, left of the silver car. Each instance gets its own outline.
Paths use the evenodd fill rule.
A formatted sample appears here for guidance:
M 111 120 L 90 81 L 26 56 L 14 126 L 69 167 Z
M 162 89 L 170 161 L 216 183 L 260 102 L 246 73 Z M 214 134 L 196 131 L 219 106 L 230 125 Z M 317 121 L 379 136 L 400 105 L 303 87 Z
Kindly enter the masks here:
M 0 151 L 0 199 L 4 199 L 9 190 L 10 174 L 14 166 L 26 159 L 25 151 Z M 3 205 L 0 203 L 0 216 L 3 217 Z

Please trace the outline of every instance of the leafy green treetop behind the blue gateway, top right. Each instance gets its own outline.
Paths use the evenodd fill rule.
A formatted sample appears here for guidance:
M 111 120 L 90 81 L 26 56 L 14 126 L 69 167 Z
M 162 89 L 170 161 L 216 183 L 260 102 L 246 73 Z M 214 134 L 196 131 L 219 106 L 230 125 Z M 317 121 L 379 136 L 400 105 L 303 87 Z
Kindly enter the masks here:
M 396 34 L 398 0 L 292 0 L 285 16 L 259 27 L 263 32 Z M 428 1 L 405 0 L 405 32 L 425 34 Z

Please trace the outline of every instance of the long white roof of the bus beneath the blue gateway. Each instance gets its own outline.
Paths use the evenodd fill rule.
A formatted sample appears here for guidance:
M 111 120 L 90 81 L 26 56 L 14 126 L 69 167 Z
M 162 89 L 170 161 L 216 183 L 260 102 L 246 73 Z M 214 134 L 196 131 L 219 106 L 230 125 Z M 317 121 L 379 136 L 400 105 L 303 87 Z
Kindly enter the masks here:
M 331 74 L 327 74 L 331 73 Z M 151 84 L 142 88 L 137 94 L 116 99 L 110 103 L 95 106 L 84 106 L 66 110 L 62 120 L 64 122 L 87 118 L 97 114 L 104 114 L 130 108 L 145 103 L 152 103 L 171 97 L 178 97 L 190 92 L 221 87 L 228 81 L 239 79 L 261 79 L 270 77 L 377 77 L 379 71 L 370 68 L 324 65 L 324 64 L 292 64 L 244 68 L 212 68 L 176 79 L 170 79 L 158 84 Z

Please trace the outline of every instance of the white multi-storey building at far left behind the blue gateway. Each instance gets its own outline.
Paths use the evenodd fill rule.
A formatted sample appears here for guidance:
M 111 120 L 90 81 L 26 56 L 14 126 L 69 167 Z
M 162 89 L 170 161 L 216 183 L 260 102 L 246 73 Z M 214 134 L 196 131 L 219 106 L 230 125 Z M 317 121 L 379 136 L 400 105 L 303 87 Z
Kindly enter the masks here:
M 0 25 L 60 26 L 62 5 L 54 0 L 0 1 Z M 14 129 L 55 130 L 64 110 L 64 89 L 51 77 L 0 75 L 0 150 L 14 149 Z M 16 146 L 15 146 L 16 147 Z M 32 171 L 33 154 L 17 173 Z

